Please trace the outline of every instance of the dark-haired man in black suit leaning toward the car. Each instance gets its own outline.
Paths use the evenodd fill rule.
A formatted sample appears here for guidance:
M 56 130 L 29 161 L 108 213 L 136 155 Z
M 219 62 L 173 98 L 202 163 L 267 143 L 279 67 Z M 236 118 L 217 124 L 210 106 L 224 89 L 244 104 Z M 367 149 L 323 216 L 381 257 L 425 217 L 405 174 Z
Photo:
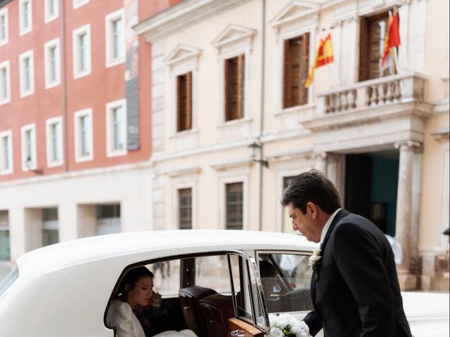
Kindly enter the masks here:
M 311 279 L 309 333 L 325 337 L 411 337 L 394 253 L 371 221 L 340 206 L 339 193 L 320 171 L 304 172 L 285 190 L 293 229 L 321 242 Z

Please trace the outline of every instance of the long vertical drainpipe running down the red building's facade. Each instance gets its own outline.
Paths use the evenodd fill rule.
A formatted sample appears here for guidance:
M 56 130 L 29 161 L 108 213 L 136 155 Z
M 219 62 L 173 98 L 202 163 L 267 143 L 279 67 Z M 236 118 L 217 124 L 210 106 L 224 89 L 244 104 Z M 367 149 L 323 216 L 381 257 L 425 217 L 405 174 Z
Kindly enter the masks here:
M 67 76 L 66 76 L 66 50 L 65 50 L 65 0 L 60 0 L 61 8 L 61 110 L 63 110 L 63 125 L 61 129 L 63 131 L 63 162 L 64 172 L 69 171 L 68 168 L 68 88 L 67 88 Z

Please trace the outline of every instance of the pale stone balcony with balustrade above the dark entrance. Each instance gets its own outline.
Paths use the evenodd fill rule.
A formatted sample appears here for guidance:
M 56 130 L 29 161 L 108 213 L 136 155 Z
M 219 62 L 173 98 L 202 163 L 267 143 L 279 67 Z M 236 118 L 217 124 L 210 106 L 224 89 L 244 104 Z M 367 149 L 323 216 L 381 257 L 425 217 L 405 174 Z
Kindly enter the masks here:
M 427 79 L 397 74 L 341 86 L 316 95 L 316 109 L 302 126 L 315 136 L 314 149 L 346 152 L 423 142 L 423 122 L 432 114 L 425 102 Z

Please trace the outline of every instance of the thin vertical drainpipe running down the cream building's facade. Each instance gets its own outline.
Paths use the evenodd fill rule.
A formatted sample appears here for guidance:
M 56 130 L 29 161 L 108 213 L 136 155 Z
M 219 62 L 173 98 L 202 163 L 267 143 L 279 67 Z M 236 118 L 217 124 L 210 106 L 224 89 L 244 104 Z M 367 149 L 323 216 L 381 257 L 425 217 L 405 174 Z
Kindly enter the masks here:
M 261 102 L 259 111 L 259 141 L 261 143 L 261 159 L 264 158 L 264 144 L 261 142 L 264 131 L 264 68 L 266 58 L 266 0 L 262 0 L 262 22 L 261 22 Z M 262 230 L 262 183 L 263 183 L 264 165 L 259 162 L 259 231 Z

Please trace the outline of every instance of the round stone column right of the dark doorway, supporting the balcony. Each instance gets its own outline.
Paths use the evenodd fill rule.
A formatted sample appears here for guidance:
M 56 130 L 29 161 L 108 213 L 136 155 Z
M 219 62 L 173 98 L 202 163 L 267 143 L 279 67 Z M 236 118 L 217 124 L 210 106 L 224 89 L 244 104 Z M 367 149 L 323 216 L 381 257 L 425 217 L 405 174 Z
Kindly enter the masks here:
M 402 290 L 413 290 L 417 289 L 418 286 L 417 267 L 413 265 L 413 259 L 417 254 L 411 253 L 413 249 L 417 249 L 417 246 L 413 246 L 411 241 L 417 235 L 417 233 L 413 233 L 413 230 L 417 229 L 412 227 L 412 206 L 414 148 L 419 146 L 419 143 L 413 141 L 395 144 L 395 147 L 400 151 L 395 236 L 401 244 L 402 251 L 401 263 L 397 265 Z

